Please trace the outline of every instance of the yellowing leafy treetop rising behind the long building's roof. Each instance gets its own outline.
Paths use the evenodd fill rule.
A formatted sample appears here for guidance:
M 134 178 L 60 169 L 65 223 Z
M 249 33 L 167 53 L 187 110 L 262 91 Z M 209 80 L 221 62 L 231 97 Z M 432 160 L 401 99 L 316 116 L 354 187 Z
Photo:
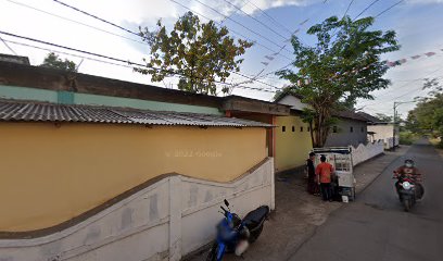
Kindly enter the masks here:
M 178 88 L 191 92 L 216 95 L 216 82 L 225 83 L 231 71 L 239 72 L 242 55 L 252 42 L 230 37 L 226 27 L 217 28 L 213 21 L 200 23 L 199 16 L 186 13 L 175 23 L 170 34 L 162 21 L 157 29 L 140 29 L 143 41 L 151 47 L 148 69 L 136 72 L 150 74 L 152 82 L 179 76 Z M 223 92 L 229 88 L 224 87 Z

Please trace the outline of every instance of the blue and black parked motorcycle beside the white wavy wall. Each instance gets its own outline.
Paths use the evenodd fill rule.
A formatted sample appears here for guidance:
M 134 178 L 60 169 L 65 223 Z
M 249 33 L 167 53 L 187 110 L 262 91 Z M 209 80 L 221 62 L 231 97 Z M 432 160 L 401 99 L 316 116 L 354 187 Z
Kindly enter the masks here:
M 206 261 L 220 261 L 226 252 L 242 256 L 249 244 L 254 243 L 262 234 L 263 225 L 269 214 L 269 207 L 262 206 L 251 211 L 243 220 L 229 209 L 225 199 L 225 209 L 219 211 L 224 219 L 217 225 L 217 238 L 207 254 Z

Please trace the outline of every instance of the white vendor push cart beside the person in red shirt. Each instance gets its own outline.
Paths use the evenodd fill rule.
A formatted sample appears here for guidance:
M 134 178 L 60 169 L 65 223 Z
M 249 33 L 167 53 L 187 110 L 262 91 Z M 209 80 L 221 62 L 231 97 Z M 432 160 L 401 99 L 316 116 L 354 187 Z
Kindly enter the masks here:
M 352 148 L 349 147 L 330 147 L 313 149 L 316 154 L 315 165 L 320 163 L 320 157 L 325 156 L 336 170 L 338 192 L 342 200 L 355 200 L 355 177 L 352 163 Z

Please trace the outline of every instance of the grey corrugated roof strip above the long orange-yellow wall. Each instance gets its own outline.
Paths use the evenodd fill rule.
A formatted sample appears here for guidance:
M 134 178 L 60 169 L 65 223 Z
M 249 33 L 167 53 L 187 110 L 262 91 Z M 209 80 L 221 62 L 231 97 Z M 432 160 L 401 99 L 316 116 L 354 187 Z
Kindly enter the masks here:
M 33 101 L 0 100 L 3 122 L 84 122 L 141 125 L 271 127 L 242 119 L 186 112 L 159 112 L 128 108 L 66 105 Z

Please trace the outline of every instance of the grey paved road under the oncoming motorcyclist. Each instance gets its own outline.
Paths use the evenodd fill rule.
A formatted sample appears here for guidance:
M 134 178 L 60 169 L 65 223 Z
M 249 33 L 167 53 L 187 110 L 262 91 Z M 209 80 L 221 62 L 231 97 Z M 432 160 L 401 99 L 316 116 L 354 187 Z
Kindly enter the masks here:
M 400 204 L 392 171 L 412 158 L 427 175 L 412 212 Z M 443 160 L 427 141 L 393 162 L 356 202 L 333 212 L 290 260 L 443 260 Z

